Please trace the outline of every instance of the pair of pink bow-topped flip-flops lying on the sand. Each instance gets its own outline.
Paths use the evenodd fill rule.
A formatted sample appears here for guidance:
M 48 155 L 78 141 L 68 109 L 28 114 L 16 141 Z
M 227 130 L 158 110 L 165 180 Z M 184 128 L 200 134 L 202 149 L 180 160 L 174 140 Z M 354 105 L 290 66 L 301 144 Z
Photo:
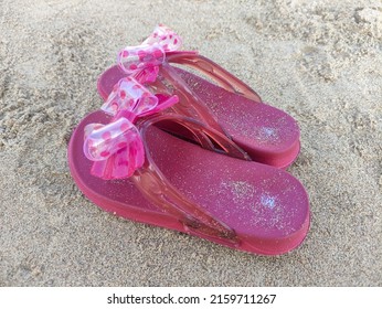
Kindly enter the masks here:
M 304 187 L 283 170 L 299 152 L 296 121 L 180 44 L 158 25 L 99 77 L 106 102 L 68 146 L 76 184 L 126 219 L 256 254 L 291 251 L 310 222 Z

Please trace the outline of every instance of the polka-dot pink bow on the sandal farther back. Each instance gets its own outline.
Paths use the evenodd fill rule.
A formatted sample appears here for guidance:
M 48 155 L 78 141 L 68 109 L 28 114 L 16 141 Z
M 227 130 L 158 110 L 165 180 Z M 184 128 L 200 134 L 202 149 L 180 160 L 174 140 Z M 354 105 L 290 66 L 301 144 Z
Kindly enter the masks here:
M 119 67 L 139 82 L 153 82 L 157 78 L 159 65 L 166 58 L 166 52 L 180 49 L 181 38 L 163 24 L 156 26 L 149 38 L 138 46 L 127 46 L 118 54 Z

